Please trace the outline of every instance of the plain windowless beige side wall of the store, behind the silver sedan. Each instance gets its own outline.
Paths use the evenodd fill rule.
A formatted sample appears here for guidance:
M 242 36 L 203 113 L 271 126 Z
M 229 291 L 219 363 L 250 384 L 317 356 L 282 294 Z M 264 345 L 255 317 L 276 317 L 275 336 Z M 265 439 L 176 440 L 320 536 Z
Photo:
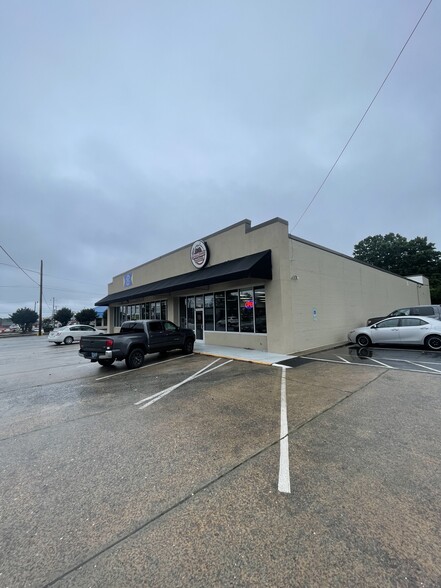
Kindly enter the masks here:
M 290 239 L 291 351 L 337 345 L 371 316 L 400 306 L 430 304 L 425 285 L 352 258 Z

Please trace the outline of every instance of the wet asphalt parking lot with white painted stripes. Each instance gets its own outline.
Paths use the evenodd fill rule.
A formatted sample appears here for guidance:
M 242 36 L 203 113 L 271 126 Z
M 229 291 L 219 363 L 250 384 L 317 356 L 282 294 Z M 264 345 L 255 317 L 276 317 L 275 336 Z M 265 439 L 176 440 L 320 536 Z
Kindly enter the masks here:
M 439 359 L 0 339 L 0 585 L 440 586 Z

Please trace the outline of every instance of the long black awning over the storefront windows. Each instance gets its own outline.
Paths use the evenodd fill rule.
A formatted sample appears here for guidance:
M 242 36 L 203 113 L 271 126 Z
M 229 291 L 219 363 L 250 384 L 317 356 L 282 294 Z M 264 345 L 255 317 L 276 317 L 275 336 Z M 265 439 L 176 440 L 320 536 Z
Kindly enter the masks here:
M 272 279 L 271 249 L 253 253 L 231 261 L 224 261 L 217 265 L 205 267 L 201 270 L 173 276 L 159 282 L 152 282 L 137 288 L 130 288 L 115 294 L 109 294 L 95 303 L 96 306 L 104 306 L 115 302 L 129 302 L 135 298 L 154 296 L 176 292 L 177 290 L 188 290 L 220 282 L 231 282 L 243 278 L 257 278 L 260 280 Z

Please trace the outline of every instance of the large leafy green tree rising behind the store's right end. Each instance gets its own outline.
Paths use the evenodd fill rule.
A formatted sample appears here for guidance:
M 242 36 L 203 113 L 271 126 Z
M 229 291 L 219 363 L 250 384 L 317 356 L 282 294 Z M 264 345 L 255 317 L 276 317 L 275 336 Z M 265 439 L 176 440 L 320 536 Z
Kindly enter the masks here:
M 398 233 L 366 237 L 354 246 L 354 258 L 400 276 L 429 279 L 434 304 L 441 303 L 441 252 L 427 237 L 406 239 Z

